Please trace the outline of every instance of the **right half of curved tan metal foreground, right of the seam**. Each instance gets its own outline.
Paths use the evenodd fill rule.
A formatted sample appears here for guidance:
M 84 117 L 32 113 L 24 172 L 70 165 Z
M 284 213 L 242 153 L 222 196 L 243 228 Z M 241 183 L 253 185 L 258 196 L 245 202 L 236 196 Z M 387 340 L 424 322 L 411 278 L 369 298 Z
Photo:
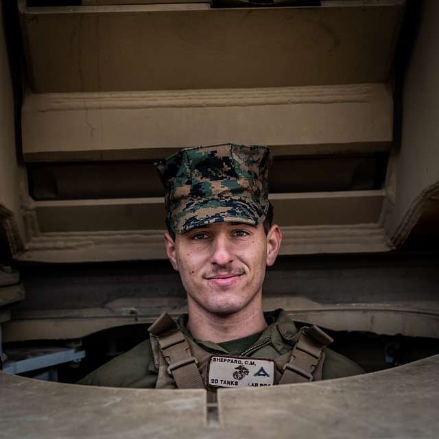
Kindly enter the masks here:
M 436 439 L 438 362 L 436 355 L 344 379 L 219 390 L 219 424 L 238 432 L 251 419 L 251 437 Z

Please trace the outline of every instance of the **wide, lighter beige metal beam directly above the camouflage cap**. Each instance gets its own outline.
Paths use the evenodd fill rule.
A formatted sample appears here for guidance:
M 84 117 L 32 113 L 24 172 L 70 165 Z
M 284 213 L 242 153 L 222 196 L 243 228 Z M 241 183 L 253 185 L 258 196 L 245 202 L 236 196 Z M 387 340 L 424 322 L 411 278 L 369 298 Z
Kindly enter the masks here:
M 178 147 L 270 145 L 276 155 L 387 150 L 387 84 L 30 94 L 27 161 L 163 158 Z

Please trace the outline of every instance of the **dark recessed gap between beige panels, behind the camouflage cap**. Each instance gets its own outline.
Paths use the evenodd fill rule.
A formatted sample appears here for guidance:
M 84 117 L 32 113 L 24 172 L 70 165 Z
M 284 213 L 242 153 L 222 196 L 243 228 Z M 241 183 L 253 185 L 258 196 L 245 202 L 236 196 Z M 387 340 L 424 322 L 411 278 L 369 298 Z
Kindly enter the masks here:
M 375 153 L 277 156 L 270 167 L 270 192 L 375 189 L 381 187 L 386 158 L 387 154 Z M 32 163 L 27 171 L 35 200 L 165 195 L 152 161 Z

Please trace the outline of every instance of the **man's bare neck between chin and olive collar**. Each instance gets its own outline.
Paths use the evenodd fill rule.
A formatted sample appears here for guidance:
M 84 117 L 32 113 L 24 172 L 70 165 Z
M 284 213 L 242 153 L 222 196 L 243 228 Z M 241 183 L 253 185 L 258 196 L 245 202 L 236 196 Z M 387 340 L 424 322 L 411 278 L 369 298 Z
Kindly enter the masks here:
M 198 340 L 228 342 L 263 331 L 268 327 L 263 316 L 261 296 L 254 298 L 245 309 L 233 314 L 210 313 L 188 298 L 187 328 Z

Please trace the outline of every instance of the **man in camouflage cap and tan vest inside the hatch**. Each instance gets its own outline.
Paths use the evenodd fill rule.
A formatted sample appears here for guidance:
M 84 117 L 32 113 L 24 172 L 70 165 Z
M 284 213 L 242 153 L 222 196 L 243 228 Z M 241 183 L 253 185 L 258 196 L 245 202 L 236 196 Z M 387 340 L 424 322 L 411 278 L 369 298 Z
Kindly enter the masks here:
M 282 234 L 268 202 L 267 147 L 215 145 L 158 163 L 165 186 L 167 257 L 187 292 L 188 314 L 163 314 L 150 340 L 81 384 L 133 388 L 263 387 L 364 372 L 327 348 L 316 326 L 263 313 L 262 285 Z

